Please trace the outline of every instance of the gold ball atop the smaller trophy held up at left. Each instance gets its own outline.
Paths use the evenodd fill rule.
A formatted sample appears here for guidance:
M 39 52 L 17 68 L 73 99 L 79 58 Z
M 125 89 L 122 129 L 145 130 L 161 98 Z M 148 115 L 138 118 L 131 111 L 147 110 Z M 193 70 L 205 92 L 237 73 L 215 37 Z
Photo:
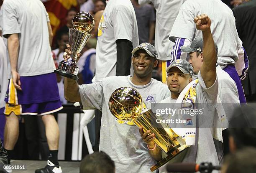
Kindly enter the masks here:
M 94 18 L 90 13 L 81 11 L 74 16 L 72 23 L 74 29 L 82 31 L 84 33 L 89 33 L 90 31 L 92 31 L 92 28 L 94 26 Z

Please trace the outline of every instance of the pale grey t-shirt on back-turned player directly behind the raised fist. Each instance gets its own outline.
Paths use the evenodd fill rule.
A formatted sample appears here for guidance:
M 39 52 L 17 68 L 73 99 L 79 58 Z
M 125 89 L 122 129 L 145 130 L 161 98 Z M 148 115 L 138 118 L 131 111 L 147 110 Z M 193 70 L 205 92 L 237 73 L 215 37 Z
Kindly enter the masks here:
M 175 38 L 193 41 L 195 37 L 202 36 L 194 22 L 194 18 L 201 14 L 207 14 L 211 19 L 212 36 L 218 46 L 218 64 L 235 64 L 242 41 L 236 31 L 232 10 L 220 0 L 187 0 L 179 10 L 169 39 L 173 42 Z

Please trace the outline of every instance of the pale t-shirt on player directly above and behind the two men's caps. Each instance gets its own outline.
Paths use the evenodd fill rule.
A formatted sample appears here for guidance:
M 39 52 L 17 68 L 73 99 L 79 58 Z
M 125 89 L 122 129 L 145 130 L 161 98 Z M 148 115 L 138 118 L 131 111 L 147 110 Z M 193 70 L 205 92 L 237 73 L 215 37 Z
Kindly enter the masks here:
M 186 0 L 138 0 L 139 4 L 153 3 L 156 9 L 155 46 L 158 59 L 171 60 L 174 43 L 168 38 L 180 6 Z

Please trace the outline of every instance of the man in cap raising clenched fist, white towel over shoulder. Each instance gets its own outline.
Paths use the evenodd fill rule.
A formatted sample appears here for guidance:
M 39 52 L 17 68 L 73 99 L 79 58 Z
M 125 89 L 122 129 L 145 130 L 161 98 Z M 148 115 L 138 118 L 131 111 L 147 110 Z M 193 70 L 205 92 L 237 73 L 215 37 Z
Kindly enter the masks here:
M 182 104 L 185 101 L 185 97 L 188 93 L 187 91 L 194 87 L 193 89 L 195 89 L 195 93 L 189 93 L 190 100 L 193 99 L 195 100 L 195 103 L 205 103 L 205 105 L 212 104 L 212 107 L 208 107 L 208 109 L 207 107 L 201 107 L 202 109 L 207 109 L 207 115 L 202 114 L 196 116 L 197 120 L 195 122 L 197 123 L 197 127 L 199 127 L 200 125 L 198 122 L 202 121 L 204 117 L 209 117 L 208 120 L 210 121 L 210 119 L 218 116 L 215 112 L 215 104 L 218 94 L 218 78 L 216 76 L 215 69 L 217 63 L 217 56 L 215 51 L 215 44 L 210 30 L 210 18 L 204 14 L 197 16 L 194 21 L 196 23 L 197 29 L 202 31 L 204 44 L 202 52 L 204 55 L 204 61 L 198 75 L 199 80 L 192 81 L 193 69 L 186 60 L 179 59 L 172 62 L 170 66 L 166 69 L 166 72 L 168 72 L 167 85 L 169 90 L 171 91 L 171 97 L 164 99 L 163 101 L 161 101 L 161 103 Z M 185 48 L 186 47 L 184 46 L 184 49 Z M 203 119 L 203 121 L 207 121 L 207 118 Z M 174 132 L 177 132 L 179 136 L 183 136 L 180 134 L 184 133 L 183 139 L 186 141 L 186 145 L 191 145 L 188 152 L 183 155 L 182 158 L 178 159 L 179 162 L 211 162 L 213 165 L 218 165 L 218 156 L 213 142 L 214 136 L 212 135 L 210 128 L 199 127 L 197 128 L 197 130 L 194 129 L 193 133 L 189 133 L 189 136 L 186 136 L 186 130 L 188 129 L 190 131 L 193 131 L 193 128 L 180 128 L 179 131 L 174 130 Z M 155 158 L 161 158 L 161 150 L 159 150 L 159 147 L 154 147 L 153 140 L 155 135 L 149 135 L 150 132 L 144 133 L 142 129 L 140 130 L 140 132 L 143 141 L 146 142 L 151 149 L 154 149 L 153 151 L 150 150 L 149 153 Z

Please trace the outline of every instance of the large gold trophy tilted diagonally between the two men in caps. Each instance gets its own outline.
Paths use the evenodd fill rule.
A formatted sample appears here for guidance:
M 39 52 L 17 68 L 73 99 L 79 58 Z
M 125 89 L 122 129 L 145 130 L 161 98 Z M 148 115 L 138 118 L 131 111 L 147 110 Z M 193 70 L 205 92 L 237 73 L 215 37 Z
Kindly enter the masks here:
M 116 89 L 108 102 L 110 112 L 119 120 L 131 121 L 144 132 L 155 134 L 154 142 L 166 153 L 166 157 L 150 168 L 154 171 L 184 151 L 187 146 L 179 144 L 177 135 L 169 127 L 156 122 L 159 119 L 151 109 L 143 109 L 143 100 L 136 89 L 121 87 Z M 182 139 L 181 139 L 182 140 Z

